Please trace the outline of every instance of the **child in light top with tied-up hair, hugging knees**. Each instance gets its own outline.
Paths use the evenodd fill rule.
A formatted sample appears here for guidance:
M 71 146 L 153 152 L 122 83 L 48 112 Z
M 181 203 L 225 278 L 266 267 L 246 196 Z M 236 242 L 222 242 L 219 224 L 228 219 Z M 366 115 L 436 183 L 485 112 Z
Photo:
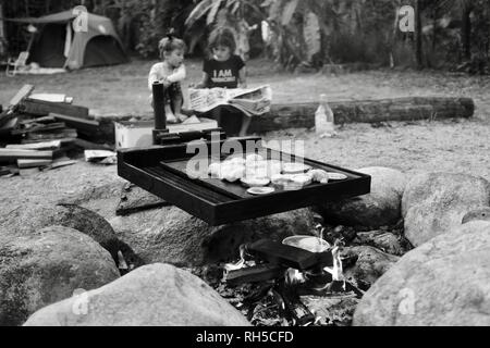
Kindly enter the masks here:
M 151 67 L 148 76 L 148 88 L 152 90 L 154 83 L 162 83 L 166 88 L 164 108 L 167 122 L 184 122 L 187 116 L 182 114 L 184 98 L 181 82 L 186 77 L 184 65 L 185 44 L 172 34 L 169 34 L 159 42 L 158 49 L 162 62 Z

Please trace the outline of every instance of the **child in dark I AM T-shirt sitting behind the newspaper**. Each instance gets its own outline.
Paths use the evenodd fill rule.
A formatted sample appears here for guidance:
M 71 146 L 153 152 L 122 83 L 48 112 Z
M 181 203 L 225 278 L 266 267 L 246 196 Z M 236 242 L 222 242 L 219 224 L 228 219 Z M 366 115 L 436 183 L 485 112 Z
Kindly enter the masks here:
M 233 33 L 224 27 L 215 29 L 209 37 L 210 59 L 205 60 L 203 80 L 195 88 L 246 88 L 246 67 L 236 54 Z M 245 136 L 252 119 L 232 107 L 219 107 L 211 115 L 228 135 L 236 135 L 233 119 L 240 119 L 240 136 Z M 224 116 L 224 117 L 223 117 Z

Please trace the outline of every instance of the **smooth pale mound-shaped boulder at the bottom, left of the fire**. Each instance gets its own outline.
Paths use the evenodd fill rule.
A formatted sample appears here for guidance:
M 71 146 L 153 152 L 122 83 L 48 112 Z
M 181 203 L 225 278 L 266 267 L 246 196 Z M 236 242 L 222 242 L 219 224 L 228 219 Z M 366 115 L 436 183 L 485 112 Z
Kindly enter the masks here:
M 200 278 L 168 264 L 41 309 L 26 326 L 249 326 Z

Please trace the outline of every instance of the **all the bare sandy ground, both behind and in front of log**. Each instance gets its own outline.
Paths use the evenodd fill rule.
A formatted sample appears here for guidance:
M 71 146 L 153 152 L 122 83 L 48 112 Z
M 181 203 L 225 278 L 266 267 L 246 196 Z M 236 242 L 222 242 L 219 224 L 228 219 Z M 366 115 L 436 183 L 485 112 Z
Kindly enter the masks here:
M 0 102 L 7 103 L 25 83 L 39 92 L 64 92 L 101 114 L 149 112 L 146 74 L 151 62 L 85 70 L 72 74 L 0 78 Z M 189 82 L 199 78 L 198 61 L 191 61 Z M 371 71 L 341 76 L 273 73 L 265 61 L 249 64 L 249 85 L 268 83 L 274 102 L 315 101 L 320 92 L 331 100 L 377 99 L 397 96 L 466 96 L 475 99 L 474 120 L 391 123 L 383 127 L 346 125 L 339 136 L 320 139 L 309 129 L 267 134 L 266 139 L 305 141 L 307 157 L 348 169 L 390 166 L 409 175 L 444 171 L 483 176 L 490 181 L 490 77 L 433 72 Z M 27 177 L 0 178 L 0 222 L 15 209 L 30 203 L 54 203 L 86 194 L 94 187 L 120 184 L 115 166 L 78 164 Z M 114 192 L 115 195 L 117 192 Z M 103 215 L 113 212 L 106 210 Z

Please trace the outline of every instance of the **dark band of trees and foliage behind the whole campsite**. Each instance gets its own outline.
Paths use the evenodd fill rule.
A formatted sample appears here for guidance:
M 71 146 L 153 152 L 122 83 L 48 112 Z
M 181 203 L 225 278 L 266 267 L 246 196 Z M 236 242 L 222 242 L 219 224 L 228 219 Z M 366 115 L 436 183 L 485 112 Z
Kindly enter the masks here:
M 157 55 L 170 28 L 189 52 L 206 46 L 217 26 L 230 26 L 247 58 L 260 47 L 279 65 L 367 62 L 487 72 L 490 60 L 490 0 L 82 0 L 89 11 L 117 24 L 128 49 Z M 37 16 L 66 10 L 79 0 L 3 1 L 5 16 Z M 402 4 L 417 9 L 417 30 L 396 28 Z M 255 30 L 257 25 L 267 35 Z M 8 27 L 11 47 L 25 33 Z M 17 42 L 17 44 L 19 44 Z

